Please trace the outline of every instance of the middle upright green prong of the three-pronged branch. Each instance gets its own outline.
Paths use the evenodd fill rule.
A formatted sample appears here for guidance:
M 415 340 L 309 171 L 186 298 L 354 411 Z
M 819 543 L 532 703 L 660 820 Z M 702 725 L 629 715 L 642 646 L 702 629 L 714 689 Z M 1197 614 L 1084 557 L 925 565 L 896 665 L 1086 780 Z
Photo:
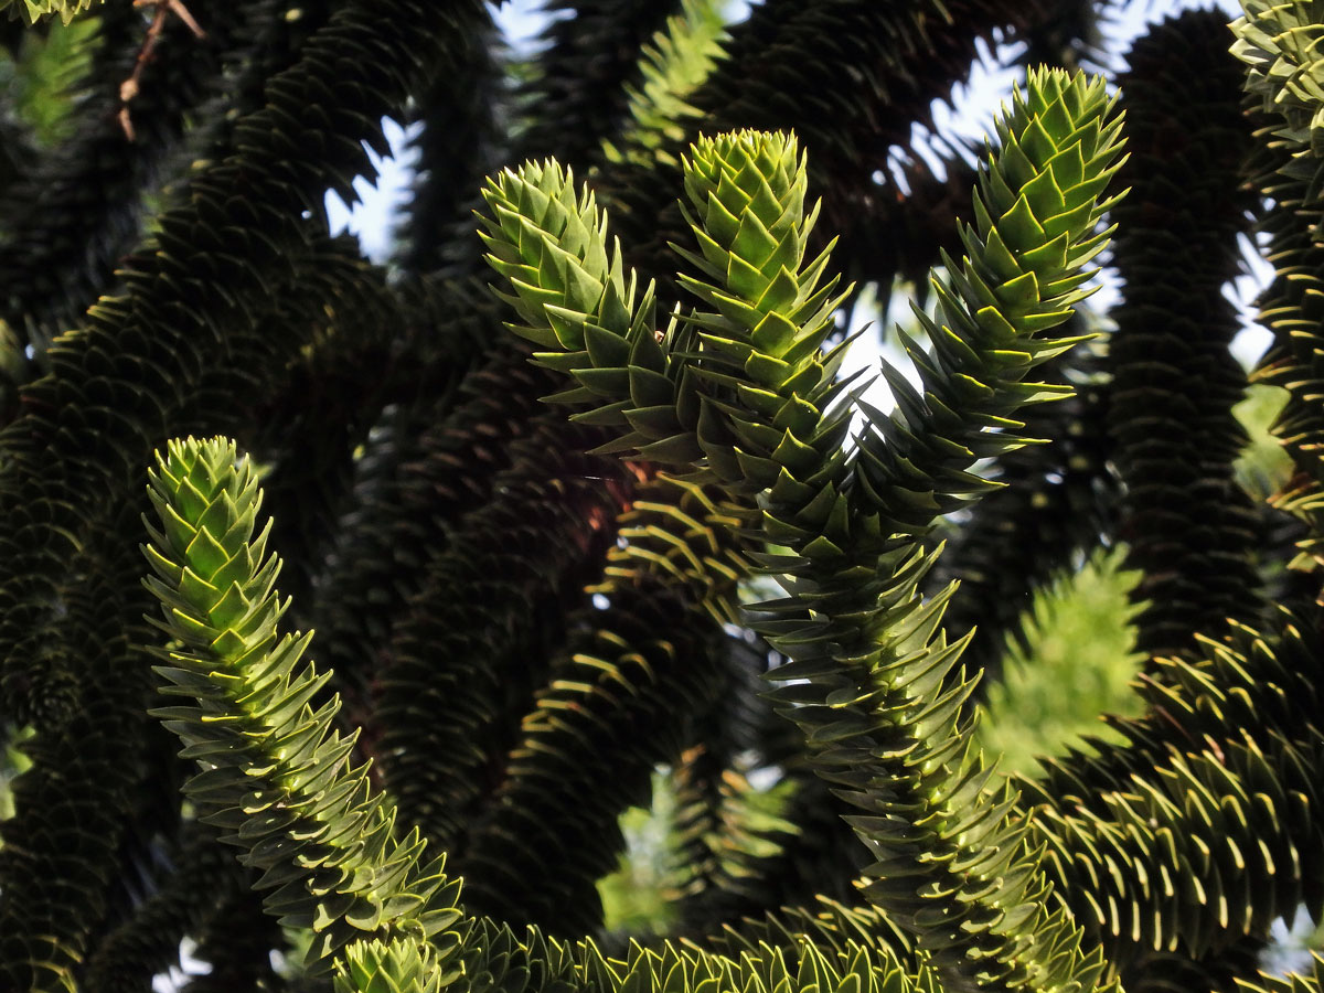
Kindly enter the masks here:
M 782 479 L 845 471 L 845 409 L 829 408 L 843 393 L 846 350 L 820 351 L 841 297 L 822 281 L 828 252 L 805 261 L 817 216 L 805 214 L 806 183 L 793 139 L 700 138 L 685 175 L 699 252 L 677 248 L 700 274 L 682 273 L 681 285 L 712 308 L 682 318 L 695 342 L 699 448 L 727 489 L 773 490 L 773 502 Z

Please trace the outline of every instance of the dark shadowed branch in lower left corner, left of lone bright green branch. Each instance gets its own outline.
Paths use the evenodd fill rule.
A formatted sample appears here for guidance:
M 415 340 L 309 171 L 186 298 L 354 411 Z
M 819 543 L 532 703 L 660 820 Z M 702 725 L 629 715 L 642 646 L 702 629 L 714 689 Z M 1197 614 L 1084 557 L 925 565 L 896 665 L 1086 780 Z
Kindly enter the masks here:
M 119 514 L 111 527 L 128 534 L 134 522 Z M 38 642 L 68 711 L 24 743 L 32 768 L 0 825 L 0 982 L 17 989 L 71 986 L 119 882 L 130 817 L 142 812 L 150 696 L 138 646 L 150 636 L 134 557 L 69 560 L 74 581 L 52 604 L 66 612 L 62 637 L 46 632 Z

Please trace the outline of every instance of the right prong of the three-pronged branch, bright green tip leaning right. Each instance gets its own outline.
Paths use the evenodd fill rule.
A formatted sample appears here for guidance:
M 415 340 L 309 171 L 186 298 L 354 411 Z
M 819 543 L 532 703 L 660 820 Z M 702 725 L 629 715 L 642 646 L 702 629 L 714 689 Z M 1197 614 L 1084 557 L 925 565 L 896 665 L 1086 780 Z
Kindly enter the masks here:
M 916 312 L 931 351 L 903 339 L 920 385 L 888 375 L 898 412 L 861 440 L 862 487 L 891 530 L 927 530 L 935 514 L 985 493 L 968 469 L 1025 444 L 1016 409 L 1070 393 L 1025 377 L 1078 340 L 1039 335 L 1090 293 L 1087 265 L 1107 244 L 1096 225 L 1115 200 L 1102 195 L 1120 130 L 1110 105 L 1102 81 L 1031 74 L 1000 120 L 976 222 L 961 225 L 969 254 L 960 265 L 944 258 L 936 315 Z

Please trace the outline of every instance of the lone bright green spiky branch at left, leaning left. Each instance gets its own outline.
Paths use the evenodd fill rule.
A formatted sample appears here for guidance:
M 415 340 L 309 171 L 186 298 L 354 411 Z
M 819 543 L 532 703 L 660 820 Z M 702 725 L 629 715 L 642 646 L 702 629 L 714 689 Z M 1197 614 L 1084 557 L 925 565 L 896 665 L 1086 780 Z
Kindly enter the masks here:
M 395 805 L 367 768 L 350 768 L 354 737 L 330 730 L 339 700 L 310 706 L 326 681 L 299 665 L 310 636 L 278 636 L 279 559 L 266 555 L 266 530 L 254 536 L 256 470 L 230 442 L 189 438 L 150 478 L 159 524 L 147 585 L 173 642 L 158 650 L 158 673 L 164 692 L 188 699 L 154 712 L 200 765 L 187 793 L 203 820 L 263 871 L 269 912 L 314 929 L 322 968 L 360 936 L 453 947 L 458 883 L 422 859 L 417 831 L 396 834 Z

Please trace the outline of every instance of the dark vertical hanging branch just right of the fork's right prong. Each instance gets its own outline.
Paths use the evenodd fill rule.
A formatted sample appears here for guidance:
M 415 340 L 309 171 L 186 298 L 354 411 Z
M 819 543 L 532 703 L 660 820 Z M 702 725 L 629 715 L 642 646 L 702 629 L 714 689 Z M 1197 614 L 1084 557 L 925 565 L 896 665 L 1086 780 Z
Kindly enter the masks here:
M 1246 442 L 1231 413 L 1246 377 L 1227 351 L 1237 312 L 1219 291 L 1241 267 L 1237 236 L 1255 199 L 1243 184 L 1243 75 L 1226 34 L 1213 12 L 1166 21 L 1132 48 L 1119 79 L 1131 151 L 1119 181 L 1131 193 L 1113 214 L 1123 302 L 1108 426 L 1125 487 L 1119 534 L 1127 567 L 1143 571 L 1132 596 L 1148 601 L 1136 617 L 1147 654 L 1188 650 L 1197 632 L 1256 616 L 1258 524 L 1231 465 Z M 1201 128 L 1188 135 L 1192 115 Z

